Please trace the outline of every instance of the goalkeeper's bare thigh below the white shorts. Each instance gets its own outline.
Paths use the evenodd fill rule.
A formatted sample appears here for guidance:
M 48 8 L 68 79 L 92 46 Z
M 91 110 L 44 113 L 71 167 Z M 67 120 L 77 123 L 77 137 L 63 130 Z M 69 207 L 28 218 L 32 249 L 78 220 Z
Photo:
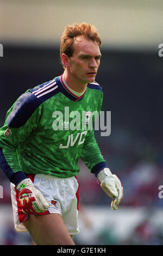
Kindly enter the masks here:
M 60 214 L 30 215 L 23 224 L 36 245 L 74 245 Z

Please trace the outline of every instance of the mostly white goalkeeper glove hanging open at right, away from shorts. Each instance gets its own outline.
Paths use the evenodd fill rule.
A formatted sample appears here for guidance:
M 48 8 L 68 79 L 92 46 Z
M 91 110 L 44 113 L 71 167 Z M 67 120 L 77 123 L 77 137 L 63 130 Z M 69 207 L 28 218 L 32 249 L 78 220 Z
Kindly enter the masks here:
M 101 187 L 104 192 L 112 198 L 111 208 L 117 210 L 123 198 L 123 186 L 121 181 L 115 174 L 110 172 L 109 168 L 102 169 L 98 173 L 97 178 L 101 182 Z

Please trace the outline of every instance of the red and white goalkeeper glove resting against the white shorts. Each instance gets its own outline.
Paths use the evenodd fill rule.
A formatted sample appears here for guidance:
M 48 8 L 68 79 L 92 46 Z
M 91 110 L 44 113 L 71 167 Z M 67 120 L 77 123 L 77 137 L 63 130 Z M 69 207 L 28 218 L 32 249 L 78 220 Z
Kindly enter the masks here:
M 22 211 L 25 214 L 35 215 L 45 212 L 49 208 L 49 203 L 41 194 L 40 190 L 34 187 L 31 179 L 22 180 L 17 186 L 19 191 L 18 199 L 20 200 Z

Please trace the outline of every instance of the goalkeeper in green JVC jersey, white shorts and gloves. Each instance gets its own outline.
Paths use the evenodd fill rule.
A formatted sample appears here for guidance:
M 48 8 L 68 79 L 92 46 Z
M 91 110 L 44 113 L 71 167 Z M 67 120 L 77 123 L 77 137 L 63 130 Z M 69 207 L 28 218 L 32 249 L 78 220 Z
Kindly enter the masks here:
M 100 113 L 103 101 L 95 82 L 100 46 L 94 26 L 67 25 L 60 45 L 63 74 L 21 95 L 0 130 L 0 166 L 11 182 L 15 229 L 29 231 L 36 245 L 74 245 L 79 158 L 112 198 L 112 209 L 123 197 L 120 180 L 88 129 L 90 113 Z M 82 117 L 76 129 L 72 113 Z

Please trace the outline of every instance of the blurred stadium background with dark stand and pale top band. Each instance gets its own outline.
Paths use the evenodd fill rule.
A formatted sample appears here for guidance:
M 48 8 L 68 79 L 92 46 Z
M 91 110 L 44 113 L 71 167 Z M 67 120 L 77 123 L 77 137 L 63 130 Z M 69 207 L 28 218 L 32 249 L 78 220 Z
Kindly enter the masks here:
M 162 245 L 163 184 L 161 0 L 0 1 L 0 125 L 7 110 L 28 88 L 62 74 L 60 37 L 67 23 L 89 22 L 102 39 L 96 81 L 111 111 L 111 135 L 96 131 L 99 147 L 124 186 L 117 211 L 110 209 L 94 175 L 79 161 L 79 245 Z M 10 184 L 0 172 L 0 244 L 30 245 L 15 233 Z

